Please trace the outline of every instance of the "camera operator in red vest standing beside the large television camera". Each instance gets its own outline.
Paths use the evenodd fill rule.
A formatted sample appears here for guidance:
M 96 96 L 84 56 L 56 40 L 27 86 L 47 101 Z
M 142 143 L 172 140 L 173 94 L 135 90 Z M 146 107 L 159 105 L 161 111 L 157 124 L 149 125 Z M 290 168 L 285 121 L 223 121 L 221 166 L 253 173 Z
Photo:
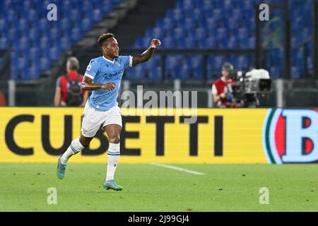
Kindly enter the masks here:
M 230 79 L 231 73 L 234 71 L 234 67 L 230 63 L 225 63 L 222 66 L 222 77 L 215 81 L 212 85 L 213 100 L 216 103 L 216 107 L 238 107 L 235 103 L 232 84 L 235 83 Z

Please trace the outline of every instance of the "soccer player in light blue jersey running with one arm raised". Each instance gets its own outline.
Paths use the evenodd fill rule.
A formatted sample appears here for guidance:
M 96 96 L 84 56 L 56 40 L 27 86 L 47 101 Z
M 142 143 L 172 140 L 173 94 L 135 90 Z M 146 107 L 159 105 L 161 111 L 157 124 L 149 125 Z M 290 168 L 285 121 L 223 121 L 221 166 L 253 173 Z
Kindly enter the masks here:
M 110 147 L 107 151 L 108 164 L 105 183 L 106 190 L 121 191 L 114 181 L 120 156 L 120 132 L 122 131 L 122 117 L 117 103 L 119 86 L 122 81 L 124 69 L 151 59 L 155 48 L 160 45 L 158 39 L 151 41 L 151 46 L 141 55 L 119 56 L 118 42 L 111 33 L 102 34 L 98 38 L 98 45 L 102 50 L 102 57 L 92 59 L 83 78 L 82 89 L 93 90 L 83 112 L 81 136 L 71 142 L 66 152 L 61 155 L 57 163 L 57 177 L 63 179 L 66 164 L 72 155 L 79 153 L 87 147 L 102 127 L 106 131 Z

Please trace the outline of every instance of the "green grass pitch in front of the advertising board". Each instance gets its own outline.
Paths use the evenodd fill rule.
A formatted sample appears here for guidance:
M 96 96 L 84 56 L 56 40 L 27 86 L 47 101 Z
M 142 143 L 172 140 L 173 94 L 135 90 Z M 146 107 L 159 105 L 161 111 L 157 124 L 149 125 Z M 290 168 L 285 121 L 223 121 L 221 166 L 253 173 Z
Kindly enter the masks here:
M 70 164 L 57 179 L 55 164 L 0 164 L 0 211 L 317 211 L 317 165 L 119 164 L 122 191 L 105 191 L 106 164 Z M 57 189 L 57 205 L 47 189 Z M 269 189 L 269 204 L 259 189 Z

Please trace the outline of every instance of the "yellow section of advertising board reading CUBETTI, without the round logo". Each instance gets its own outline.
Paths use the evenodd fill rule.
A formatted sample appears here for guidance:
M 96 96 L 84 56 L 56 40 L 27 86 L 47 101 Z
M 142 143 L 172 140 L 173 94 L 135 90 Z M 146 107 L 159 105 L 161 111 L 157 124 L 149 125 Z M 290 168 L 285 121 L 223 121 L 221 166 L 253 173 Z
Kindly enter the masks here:
M 121 109 L 122 163 L 267 163 L 262 131 L 268 109 Z M 81 131 L 82 108 L 1 107 L 0 162 L 57 162 Z M 100 132 L 71 162 L 107 162 Z

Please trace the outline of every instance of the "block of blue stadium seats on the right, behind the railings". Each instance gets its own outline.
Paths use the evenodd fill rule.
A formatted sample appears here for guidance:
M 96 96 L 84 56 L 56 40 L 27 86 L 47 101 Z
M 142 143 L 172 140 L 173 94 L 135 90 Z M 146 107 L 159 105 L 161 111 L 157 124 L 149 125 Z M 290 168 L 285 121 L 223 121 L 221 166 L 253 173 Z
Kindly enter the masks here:
M 283 0 L 269 1 L 271 3 L 283 3 Z M 145 47 L 152 37 L 163 40 L 163 49 L 253 49 L 255 47 L 255 4 L 261 4 L 260 0 L 178 0 L 175 8 L 170 8 L 165 17 L 158 18 L 153 28 L 148 28 L 143 37 L 138 37 L 131 46 L 134 49 Z M 271 31 L 280 30 L 279 23 L 283 18 L 283 12 L 270 11 Z M 298 47 L 312 35 L 311 2 L 302 0 L 290 0 L 290 18 L 292 41 L 292 78 L 300 78 L 304 73 L 304 51 L 305 47 Z M 281 18 L 275 23 L 275 18 Z M 304 32 L 298 32 L 304 30 Z M 274 35 L 275 32 L 273 32 Z M 282 76 L 283 47 L 277 40 L 282 37 L 270 37 L 266 49 L 265 66 L 273 78 Z M 263 35 L 266 37 L 266 33 Z M 312 70 L 312 47 L 307 61 L 309 69 Z M 224 61 L 230 61 L 235 68 L 247 70 L 254 66 L 254 56 L 243 56 L 231 54 L 211 55 L 208 57 L 209 80 Z M 155 69 L 153 69 L 155 65 Z M 165 67 L 165 78 L 182 78 L 188 80 L 202 79 L 203 59 L 199 56 L 184 57 L 175 55 L 167 57 Z M 160 59 L 148 64 L 136 66 L 129 69 L 126 79 L 160 79 Z M 138 75 L 138 76 L 135 76 Z

